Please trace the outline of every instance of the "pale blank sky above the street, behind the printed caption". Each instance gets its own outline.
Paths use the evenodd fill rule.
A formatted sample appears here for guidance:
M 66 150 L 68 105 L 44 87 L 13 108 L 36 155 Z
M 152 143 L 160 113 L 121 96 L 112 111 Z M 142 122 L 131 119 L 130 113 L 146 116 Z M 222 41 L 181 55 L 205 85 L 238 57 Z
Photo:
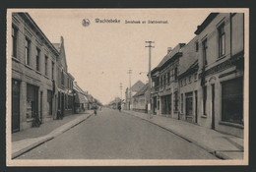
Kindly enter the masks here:
M 68 72 L 85 91 L 106 104 L 116 96 L 125 97 L 129 86 L 147 83 L 149 49 L 145 41 L 155 41 L 151 69 L 166 55 L 167 47 L 188 43 L 197 26 L 211 13 L 206 9 L 27 9 L 33 21 L 52 43 L 64 37 Z M 82 21 L 88 19 L 85 27 Z M 96 23 L 120 20 L 119 24 Z M 167 24 L 148 24 L 148 20 Z M 146 24 L 125 24 L 146 21 Z M 141 75 L 140 75 L 141 73 Z M 120 89 L 122 84 L 122 91 Z

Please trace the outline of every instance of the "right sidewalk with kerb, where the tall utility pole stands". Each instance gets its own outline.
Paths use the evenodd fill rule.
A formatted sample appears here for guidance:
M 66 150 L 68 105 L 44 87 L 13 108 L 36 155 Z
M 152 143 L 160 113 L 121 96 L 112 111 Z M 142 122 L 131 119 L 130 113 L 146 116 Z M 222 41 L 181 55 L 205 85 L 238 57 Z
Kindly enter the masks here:
M 149 119 L 146 113 L 128 110 L 123 110 L 123 112 L 158 125 L 190 143 L 199 145 L 219 158 L 243 159 L 243 139 L 241 138 L 225 135 L 186 121 L 157 115 Z

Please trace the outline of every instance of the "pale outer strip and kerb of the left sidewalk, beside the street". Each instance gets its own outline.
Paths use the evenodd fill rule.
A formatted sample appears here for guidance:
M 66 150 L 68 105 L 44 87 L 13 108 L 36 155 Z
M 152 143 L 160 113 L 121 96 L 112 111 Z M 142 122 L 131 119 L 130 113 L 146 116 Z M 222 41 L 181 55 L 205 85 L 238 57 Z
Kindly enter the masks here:
M 46 142 L 52 140 L 53 138 L 57 137 L 58 135 L 68 131 L 72 127 L 74 127 L 74 126 L 78 125 L 79 123 L 83 122 L 84 120 L 88 119 L 92 115 L 93 114 L 89 114 L 88 116 L 83 115 L 81 117 L 78 117 L 77 119 L 74 119 L 73 121 L 66 123 L 63 126 L 55 129 L 54 131 L 52 131 L 50 134 L 48 134 L 46 136 L 35 138 L 35 139 L 22 140 L 22 141 L 12 143 L 12 158 L 15 158 L 15 157 L 25 153 L 26 151 L 29 151 L 30 149 L 34 148 L 35 146 L 37 146 L 41 143 L 46 143 Z M 19 145 L 22 145 L 22 146 L 19 147 Z

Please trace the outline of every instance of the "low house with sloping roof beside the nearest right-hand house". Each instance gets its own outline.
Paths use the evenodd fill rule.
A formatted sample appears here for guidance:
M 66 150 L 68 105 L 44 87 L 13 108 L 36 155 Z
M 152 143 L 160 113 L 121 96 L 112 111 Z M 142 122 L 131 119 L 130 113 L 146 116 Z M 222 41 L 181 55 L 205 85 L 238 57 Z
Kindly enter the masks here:
M 197 123 L 198 119 L 198 39 L 195 36 L 181 50 L 179 61 L 179 114 L 180 119 Z

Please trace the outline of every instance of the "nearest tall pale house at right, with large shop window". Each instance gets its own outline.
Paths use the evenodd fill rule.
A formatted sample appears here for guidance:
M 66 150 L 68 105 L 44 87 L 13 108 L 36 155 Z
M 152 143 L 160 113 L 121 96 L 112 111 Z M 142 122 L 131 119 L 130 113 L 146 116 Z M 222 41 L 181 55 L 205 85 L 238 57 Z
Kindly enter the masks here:
M 212 13 L 196 29 L 198 123 L 243 138 L 244 14 Z

